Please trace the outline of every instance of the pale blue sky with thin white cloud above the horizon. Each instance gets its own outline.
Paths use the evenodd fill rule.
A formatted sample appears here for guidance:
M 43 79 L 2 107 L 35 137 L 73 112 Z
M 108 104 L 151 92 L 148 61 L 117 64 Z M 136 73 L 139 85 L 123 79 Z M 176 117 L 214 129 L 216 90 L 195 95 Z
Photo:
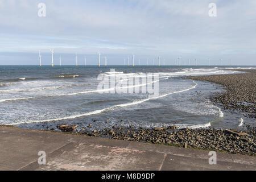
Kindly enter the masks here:
M 46 16 L 38 16 L 45 3 Z M 217 16 L 209 16 L 209 3 Z M 201 64 L 256 65 L 256 1 L 201 0 L 0 0 L 0 65 Z

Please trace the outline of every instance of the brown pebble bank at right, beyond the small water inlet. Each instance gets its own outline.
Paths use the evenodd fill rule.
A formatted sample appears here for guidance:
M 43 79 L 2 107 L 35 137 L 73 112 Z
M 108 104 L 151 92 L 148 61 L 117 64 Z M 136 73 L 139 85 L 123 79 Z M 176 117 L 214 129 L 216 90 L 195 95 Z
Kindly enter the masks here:
M 246 73 L 228 75 L 189 76 L 191 80 L 208 81 L 225 87 L 224 93 L 210 98 L 214 104 L 221 105 L 225 110 L 238 111 L 245 117 L 256 118 L 256 70 L 230 69 Z

